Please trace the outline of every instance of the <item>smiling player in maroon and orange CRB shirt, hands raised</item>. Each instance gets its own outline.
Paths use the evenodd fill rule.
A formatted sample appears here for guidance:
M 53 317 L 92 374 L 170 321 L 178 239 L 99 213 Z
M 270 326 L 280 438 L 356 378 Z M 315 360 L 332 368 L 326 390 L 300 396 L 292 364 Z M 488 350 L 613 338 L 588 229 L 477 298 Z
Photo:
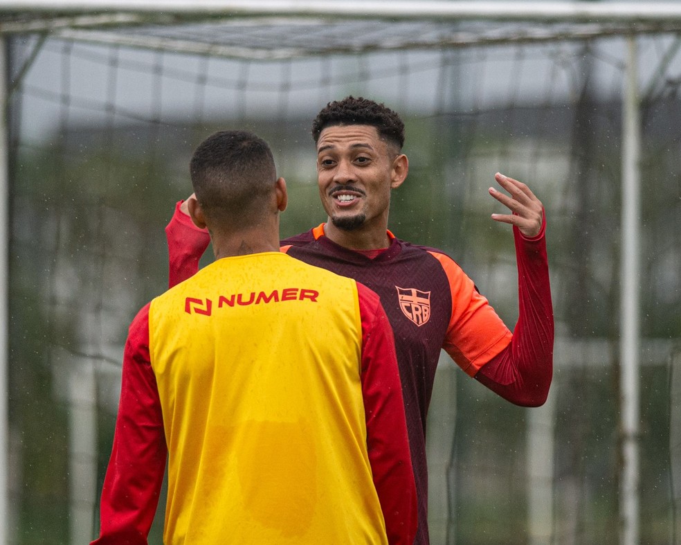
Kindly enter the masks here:
M 404 125 L 365 98 L 323 108 L 312 124 L 324 224 L 282 241 L 299 260 L 354 278 L 379 294 L 394 332 L 419 501 L 417 543 L 428 543 L 426 416 L 439 353 L 520 406 L 539 406 L 553 369 L 554 321 L 543 205 L 525 184 L 496 174 L 489 194 L 509 208 L 492 220 L 513 226 L 519 315 L 514 331 L 443 251 L 388 231 L 390 193 L 405 181 Z M 193 197 L 188 199 L 191 202 Z M 170 283 L 194 274 L 208 244 L 180 202 L 166 229 Z

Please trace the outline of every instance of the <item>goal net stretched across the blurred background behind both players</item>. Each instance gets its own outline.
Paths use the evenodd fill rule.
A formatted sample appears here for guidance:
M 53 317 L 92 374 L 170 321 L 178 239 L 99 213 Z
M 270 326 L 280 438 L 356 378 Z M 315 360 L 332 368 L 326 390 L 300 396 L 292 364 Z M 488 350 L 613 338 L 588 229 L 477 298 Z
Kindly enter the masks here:
M 541 409 L 511 406 L 442 357 L 428 420 L 431 542 L 614 542 L 630 39 L 642 180 L 637 520 L 641 542 L 681 538 L 681 15 L 547 21 L 537 10 L 0 19 L 10 137 L 8 543 L 96 535 L 122 346 L 136 311 L 167 287 L 163 229 L 191 193 L 194 148 L 218 129 L 263 136 L 289 187 L 282 236 L 307 231 L 325 221 L 311 120 L 348 95 L 385 102 L 406 120 L 410 173 L 392 195 L 390 230 L 446 250 L 511 328 L 514 246 L 489 218 L 499 211 L 487 195 L 494 173 L 527 182 L 548 219 L 550 399 Z M 161 542 L 162 503 L 150 543 Z

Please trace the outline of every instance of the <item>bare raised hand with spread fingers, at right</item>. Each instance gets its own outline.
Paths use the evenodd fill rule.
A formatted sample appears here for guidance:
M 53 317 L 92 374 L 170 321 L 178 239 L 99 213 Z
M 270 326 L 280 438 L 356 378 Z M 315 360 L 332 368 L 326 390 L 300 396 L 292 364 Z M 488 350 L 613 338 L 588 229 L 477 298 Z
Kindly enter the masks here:
M 497 183 L 509 195 L 495 188 L 489 188 L 489 194 L 498 202 L 509 208 L 510 214 L 492 214 L 496 222 L 516 225 L 523 235 L 532 238 L 539 234 L 543 222 L 543 205 L 522 181 L 496 173 Z

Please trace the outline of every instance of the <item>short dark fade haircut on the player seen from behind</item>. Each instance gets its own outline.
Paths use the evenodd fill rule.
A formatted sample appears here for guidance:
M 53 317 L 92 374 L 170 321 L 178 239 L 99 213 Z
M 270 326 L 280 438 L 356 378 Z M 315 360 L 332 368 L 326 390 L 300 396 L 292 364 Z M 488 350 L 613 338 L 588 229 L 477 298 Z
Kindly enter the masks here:
M 190 175 L 203 212 L 228 226 L 256 223 L 268 211 L 276 168 L 269 145 L 246 131 L 220 131 L 194 151 Z

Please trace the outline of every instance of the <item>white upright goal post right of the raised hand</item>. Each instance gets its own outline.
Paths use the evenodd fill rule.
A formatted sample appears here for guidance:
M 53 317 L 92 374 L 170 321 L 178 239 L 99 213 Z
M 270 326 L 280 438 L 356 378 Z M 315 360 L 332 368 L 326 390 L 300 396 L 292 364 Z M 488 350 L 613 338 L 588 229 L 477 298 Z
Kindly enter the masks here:
M 639 542 L 639 286 L 640 286 L 640 120 L 637 46 L 628 38 L 622 107 L 622 209 L 620 261 L 621 458 L 620 543 Z

